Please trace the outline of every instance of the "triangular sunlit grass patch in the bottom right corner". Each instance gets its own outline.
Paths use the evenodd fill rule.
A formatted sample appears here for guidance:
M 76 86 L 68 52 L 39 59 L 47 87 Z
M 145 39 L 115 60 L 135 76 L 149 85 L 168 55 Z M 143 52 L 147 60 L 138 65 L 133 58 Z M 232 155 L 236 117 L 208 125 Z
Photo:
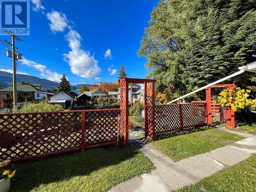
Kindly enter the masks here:
M 177 192 L 256 191 L 256 155 Z

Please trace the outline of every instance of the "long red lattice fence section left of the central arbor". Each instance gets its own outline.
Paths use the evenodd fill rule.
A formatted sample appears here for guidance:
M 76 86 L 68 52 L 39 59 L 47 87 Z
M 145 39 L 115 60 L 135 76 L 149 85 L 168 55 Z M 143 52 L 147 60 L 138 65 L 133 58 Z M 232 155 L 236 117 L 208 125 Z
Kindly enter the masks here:
M 0 159 L 13 161 L 112 144 L 119 109 L 0 115 Z

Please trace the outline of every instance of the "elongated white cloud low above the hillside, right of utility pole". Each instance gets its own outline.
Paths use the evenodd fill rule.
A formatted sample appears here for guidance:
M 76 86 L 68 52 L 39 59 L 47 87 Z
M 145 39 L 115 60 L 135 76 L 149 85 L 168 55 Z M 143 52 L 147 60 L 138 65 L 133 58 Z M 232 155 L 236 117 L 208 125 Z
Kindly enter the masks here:
M 35 61 L 23 58 L 22 63 L 26 66 L 32 67 L 32 68 L 40 71 L 41 72 L 40 75 L 42 77 L 45 77 L 48 80 L 59 82 L 60 78 L 62 77 L 61 74 L 59 74 L 57 72 L 52 72 L 51 70 L 47 69 L 46 66 L 41 65 Z

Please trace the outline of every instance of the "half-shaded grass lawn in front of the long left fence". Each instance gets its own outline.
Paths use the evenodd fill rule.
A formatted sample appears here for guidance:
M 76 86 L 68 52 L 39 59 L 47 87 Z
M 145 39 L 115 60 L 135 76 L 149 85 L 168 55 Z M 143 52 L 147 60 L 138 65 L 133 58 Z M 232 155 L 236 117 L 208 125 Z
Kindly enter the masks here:
M 107 191 L 152 169 L 132 145 L 94 148 L 18 163 L 11 191 Z

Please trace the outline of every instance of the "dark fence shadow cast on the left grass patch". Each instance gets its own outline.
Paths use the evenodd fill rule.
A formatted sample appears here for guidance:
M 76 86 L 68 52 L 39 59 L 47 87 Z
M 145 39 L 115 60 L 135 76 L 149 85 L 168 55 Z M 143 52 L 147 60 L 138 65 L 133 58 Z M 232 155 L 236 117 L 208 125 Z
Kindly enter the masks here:
M 133 145 L 121 146 L 118 150 L 111 146 L 16 163 L 11 191 L 30 191 L 41 184 L 69 180 L 74 176 L 89 176 L 137 154 L 139 151 Z

